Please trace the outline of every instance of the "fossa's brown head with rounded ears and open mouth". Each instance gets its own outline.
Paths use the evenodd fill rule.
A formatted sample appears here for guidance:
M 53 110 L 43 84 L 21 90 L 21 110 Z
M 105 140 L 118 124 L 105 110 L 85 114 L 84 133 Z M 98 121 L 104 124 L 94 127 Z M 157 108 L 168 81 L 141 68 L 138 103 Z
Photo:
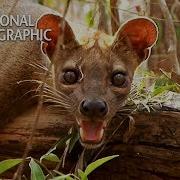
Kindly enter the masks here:
M 98 39 L 90 47 L 80 45 L 69 24 L 56 15 L 42 16 L 37 28 L 52 29 L 52 40 L 42 48 L 53 60 L 57 107 L 73 115 L 84 146 L 98 146 L 125 103 L 134 71 L 157 40 L 155 23 L 144 17 L 126 22 L 106 48 Z

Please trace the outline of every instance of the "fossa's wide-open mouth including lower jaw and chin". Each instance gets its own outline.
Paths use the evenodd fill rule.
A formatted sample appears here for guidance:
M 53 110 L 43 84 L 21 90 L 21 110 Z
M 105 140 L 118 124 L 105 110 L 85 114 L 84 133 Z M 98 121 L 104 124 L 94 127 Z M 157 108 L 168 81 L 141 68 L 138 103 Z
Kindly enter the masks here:
M 81 143 L 87 148 L 94 148 L 102 143 L 104 137 L 104 130 L 106 128 L 106 121 L 80 121 L 79 133 Z

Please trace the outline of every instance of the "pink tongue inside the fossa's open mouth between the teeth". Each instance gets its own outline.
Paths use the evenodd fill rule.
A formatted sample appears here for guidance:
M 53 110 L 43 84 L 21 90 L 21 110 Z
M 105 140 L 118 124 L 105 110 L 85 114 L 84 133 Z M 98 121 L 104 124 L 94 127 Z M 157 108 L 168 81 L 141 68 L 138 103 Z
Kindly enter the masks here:
M 103 136 L 103 122 L 82 121 L 80 124 L 80 136 L 83 142 L 98 143 Z

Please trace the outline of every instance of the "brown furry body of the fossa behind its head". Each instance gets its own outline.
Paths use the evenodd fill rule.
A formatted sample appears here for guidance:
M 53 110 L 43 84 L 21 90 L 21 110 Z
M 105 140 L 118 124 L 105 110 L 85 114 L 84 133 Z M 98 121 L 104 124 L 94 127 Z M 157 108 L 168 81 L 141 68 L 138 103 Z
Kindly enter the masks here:
M 13 2 L 13 0 L 2 0 L 0 2 L 0 15 L 7 15 Z M 52 11 L 37 4 L 20 0 L 12 14 L 31 14 L 33 22 L 36 22 L 37 18 L 45 12 Z M 36 73 L 38 70 L 30 66 L 31 63 L 48 63 L 47 57 L 41 52 L 40 42 L 0 42 L 0 122 L 3 121 L 3 124 L 34 103 L 29 104 L 30 101 L 28 101 L 32 93 L 26 96 L 24 94 L 34 90 L 37 85 L 34 86 L 34 83 L 28 82 L 18 84 L 19 81 L 39 78 Z

